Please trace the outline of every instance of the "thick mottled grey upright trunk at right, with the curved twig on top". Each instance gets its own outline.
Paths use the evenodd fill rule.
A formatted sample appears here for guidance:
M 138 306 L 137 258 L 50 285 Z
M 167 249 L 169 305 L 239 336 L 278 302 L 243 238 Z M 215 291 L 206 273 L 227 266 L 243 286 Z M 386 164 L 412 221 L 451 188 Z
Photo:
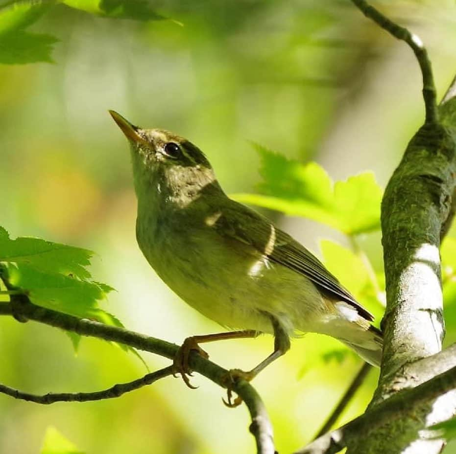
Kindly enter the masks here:
M 423 383 L 429 376 L 423 368 L 415 369 L 413 375 L 407 365 L 441 349 L 444 323 L 439 247 L 455 214 L 456 81 L 444 96 L 438 115 L 434 114 L 431 66 L 419 40 L 365 1 L 352 1 L 366 16 L 413 48 L 423 74 L 426 104 L 426 123 L 409 142 L 382 201 L 387 296 L 382 321 L 384 356 L 380 384 L 366 413 L 378 426 L 372 411 L 384 399 Z M 406 449 L 409 454 L 439 453 L 442 440 L 426 440 L 419 431 L 455 413 L 456 392 L 441 397 L 434 407 L 398 409 L 400 421 L 378 427 L 367 439 L 349 439 L 347 453 L 390 454 Z

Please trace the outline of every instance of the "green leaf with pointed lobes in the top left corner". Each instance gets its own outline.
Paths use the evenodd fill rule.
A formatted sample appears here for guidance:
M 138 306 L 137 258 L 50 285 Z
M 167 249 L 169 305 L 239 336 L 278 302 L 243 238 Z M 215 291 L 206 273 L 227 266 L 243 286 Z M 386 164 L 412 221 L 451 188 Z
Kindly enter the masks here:
M 0 63 L 52 63 L 52 45 L 58 40 L 46 34 L 28 33 L 55 1 L 29 0 L 0 8 Z

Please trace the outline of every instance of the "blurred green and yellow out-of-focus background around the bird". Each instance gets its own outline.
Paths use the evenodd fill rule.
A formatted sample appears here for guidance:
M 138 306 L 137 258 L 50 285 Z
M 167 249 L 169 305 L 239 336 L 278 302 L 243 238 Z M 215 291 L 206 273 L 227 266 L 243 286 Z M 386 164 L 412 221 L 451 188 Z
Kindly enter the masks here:
M 376 4 L 428 45 L 442 95 L 456 68 L 455 1 Z M 348 0 L 153 6 L 172 20 L 109 19 L 56 5 L 31 28 L 60 40 L 54 63 L 0 65 L 0 221 L 12 237 L 95 250 L 93 276 L 117 289 L 104 308 L 129 329 L 181 343 L 220 328 L 172 294 L 138 250 L 129 152 L 108 109 L 191 139 L 230 193 L 253 192 L 260 180 L 249 141 L 316 160 L 335 180 L 371 169 L 384 186 L 423 104 L 411 51 Z M 311 221 L 267 214 L 317 255 L 321 238 L 346 241 Z M 380 234 L 360 242 L 381 271 Z M 0 383 L 91 391 L 146 373 L 105 342 L 83 339 L 75 355 L 58 330 L 0 323 Z M 247 369 L 271 346 L 263 337 L 207 350 L 222 366 Z M 352 354 L 328 354 L 342 349 L 306 335 L 255 379 L 281 453 L 311 439 L 360 368 Z M 168 364 L 143 356 L 152 370 Z M 377 378 L 368 376 L 339 423 L 365 408 Z M 202 377 L 192 383 L 199 388 L 168 378 L 119 399 L 48 407 L 0 396 L 0 453 L 39 453 L 49 425 L 86 453 L 253 452 L 247 410 L 225 408 L 223 390 Z

